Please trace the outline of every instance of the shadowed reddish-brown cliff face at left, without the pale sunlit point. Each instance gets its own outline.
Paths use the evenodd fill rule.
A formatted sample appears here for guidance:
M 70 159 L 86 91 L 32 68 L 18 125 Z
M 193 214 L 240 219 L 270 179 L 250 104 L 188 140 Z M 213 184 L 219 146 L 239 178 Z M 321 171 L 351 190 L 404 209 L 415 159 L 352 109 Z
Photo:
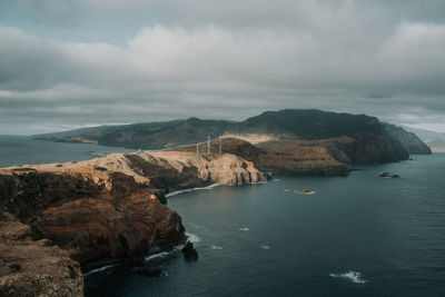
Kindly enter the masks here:
M 81 264 L 138 257 L 152 245 L 178 242 L 179 215 L 130 176 L 97 169 L 0 174 L 1 207 Z

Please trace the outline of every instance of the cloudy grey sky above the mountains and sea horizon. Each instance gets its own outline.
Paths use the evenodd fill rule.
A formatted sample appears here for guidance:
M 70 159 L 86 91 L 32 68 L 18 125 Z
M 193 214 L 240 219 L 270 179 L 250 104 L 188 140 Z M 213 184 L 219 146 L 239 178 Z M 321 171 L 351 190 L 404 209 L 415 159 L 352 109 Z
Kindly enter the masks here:
M 285 108 L 445 132 L 445 1 L 0 0 L 0 133 Z

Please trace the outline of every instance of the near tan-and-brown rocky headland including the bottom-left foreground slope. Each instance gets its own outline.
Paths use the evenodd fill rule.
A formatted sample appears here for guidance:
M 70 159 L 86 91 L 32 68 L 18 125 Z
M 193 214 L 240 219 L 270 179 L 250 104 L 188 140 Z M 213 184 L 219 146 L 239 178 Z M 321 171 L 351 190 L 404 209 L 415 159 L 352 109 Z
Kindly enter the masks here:
M 80 265 L 184 242 L 181 218 L 162 204 L 164 194 L 263 180 L 238 156 L 185 151 L 0 169 L 0 293 L 81 296 Z

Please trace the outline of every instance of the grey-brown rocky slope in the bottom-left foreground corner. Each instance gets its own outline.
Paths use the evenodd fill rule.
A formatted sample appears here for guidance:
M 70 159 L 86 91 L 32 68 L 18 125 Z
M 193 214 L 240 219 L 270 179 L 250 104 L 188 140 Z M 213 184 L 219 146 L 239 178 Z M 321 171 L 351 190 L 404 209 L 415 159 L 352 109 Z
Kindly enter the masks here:
M 83 296 L 79 264 L 31 235 L 29 226 L 0 211 L 0 296 Z

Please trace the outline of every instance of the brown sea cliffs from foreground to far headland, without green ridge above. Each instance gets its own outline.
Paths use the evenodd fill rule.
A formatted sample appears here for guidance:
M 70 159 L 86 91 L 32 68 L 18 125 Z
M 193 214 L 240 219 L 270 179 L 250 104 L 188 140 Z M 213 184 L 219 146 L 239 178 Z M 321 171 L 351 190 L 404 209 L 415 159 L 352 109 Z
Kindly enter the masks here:
M 166 206 L 171 191 L 261 182 L 263 172 L 347 176 L 348 162 L 407 158 L 400 143 L 379 130 L 354 137 L 263 140 L 251 143 L 225 137 L 222 142 L 209 141 L 209 147 L 190 145 L 0 169 L 0 221 L 18 226 L 0 230 L 6 242 L 0 245 L 0 293 L 38 295 L 33 294 L 38 288 L 46 296 L 79 296 L 83 288 L 80 267 L 107 259 L 140 265 L 147 254 L 185 244 L 181 218 Z M 190 245 L 185 255 L 197 259 Z M 18 246 L 41 255 L 39 271 L 23 265 Z M 24 255 L 32 263 L 31 254 Z M 37 280 L 30 274 L 48 281 L 32 287 Z

